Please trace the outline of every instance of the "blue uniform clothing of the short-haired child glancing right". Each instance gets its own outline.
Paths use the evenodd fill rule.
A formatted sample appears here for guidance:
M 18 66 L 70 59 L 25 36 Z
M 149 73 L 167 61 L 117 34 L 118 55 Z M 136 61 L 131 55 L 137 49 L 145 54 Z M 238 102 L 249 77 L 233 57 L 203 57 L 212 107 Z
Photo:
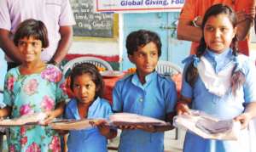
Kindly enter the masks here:
M 113 89 L 113 111 L 146 115 L 160 120 L 174 111 L 177 91 L 172 80 L 153 72 L 142 84 L 137 74 L 127 76 Z M 120 152 L 162 152 L 164 132 L 123 130 L 120 135 Z

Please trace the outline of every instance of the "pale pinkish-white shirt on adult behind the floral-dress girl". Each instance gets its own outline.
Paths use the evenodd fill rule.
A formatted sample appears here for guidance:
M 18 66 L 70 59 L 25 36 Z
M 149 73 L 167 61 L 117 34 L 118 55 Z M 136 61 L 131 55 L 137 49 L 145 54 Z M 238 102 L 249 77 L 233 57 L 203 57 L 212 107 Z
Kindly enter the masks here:
M 75 24 L 69 0 L 0 1 L 0 28 L 10 31 L 12 37 L 20 22 L 26 19 L 41 20 L 46 25 L 49 47 L 41 54 L 44 61 L 51 59 L 58 47 L 60 26 Z

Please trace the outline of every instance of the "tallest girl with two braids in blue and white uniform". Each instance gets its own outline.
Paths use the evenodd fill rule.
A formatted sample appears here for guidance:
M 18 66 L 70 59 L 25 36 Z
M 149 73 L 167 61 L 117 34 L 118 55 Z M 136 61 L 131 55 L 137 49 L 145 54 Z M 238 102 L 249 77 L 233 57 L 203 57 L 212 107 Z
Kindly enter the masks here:
M 189 114 L 190 107 L 219 119 L 240 121 L 239 139 L 212 140 L 187 132 L 184 152 L 253 152 L 247 126 L 256 115 L 256 71 L 253 62 L 238 53 L 236 24 L 236 14 L 228 6 L 217 4 L 207 10 L 197 53 L 184 60 L 177 114 Z

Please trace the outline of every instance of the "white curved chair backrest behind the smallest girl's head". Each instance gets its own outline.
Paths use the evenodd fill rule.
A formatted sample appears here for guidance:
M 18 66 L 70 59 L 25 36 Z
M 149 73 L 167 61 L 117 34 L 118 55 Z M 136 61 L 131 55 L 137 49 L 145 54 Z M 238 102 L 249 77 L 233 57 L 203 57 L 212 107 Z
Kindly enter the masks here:
M 67 75 L 67 71 L 71 70 L 75 64 L 84 63 L 84 62 L 96 65 L 97 67 L 105 68 L 106 70 L 113 70 L 112 66 L 109 65 L 108 62 L 103 59 L 96 58 L 96 57 L 79 57 L 76 59 L 71 59 L 70 61 L 67 62 L 66 65 L 63 66 L 64 76 Z

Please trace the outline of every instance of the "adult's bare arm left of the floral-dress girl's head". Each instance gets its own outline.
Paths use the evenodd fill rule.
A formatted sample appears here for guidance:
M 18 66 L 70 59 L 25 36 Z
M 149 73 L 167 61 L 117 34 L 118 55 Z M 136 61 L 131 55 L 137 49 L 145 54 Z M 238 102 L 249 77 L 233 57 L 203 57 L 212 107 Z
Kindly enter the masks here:
M 15 46 L 15 43 L 10 38 L 10 31 L 0 29 L 0 48 L 3 48 L 4 53 L 15 63 L 22 62 L 22 56 Z

